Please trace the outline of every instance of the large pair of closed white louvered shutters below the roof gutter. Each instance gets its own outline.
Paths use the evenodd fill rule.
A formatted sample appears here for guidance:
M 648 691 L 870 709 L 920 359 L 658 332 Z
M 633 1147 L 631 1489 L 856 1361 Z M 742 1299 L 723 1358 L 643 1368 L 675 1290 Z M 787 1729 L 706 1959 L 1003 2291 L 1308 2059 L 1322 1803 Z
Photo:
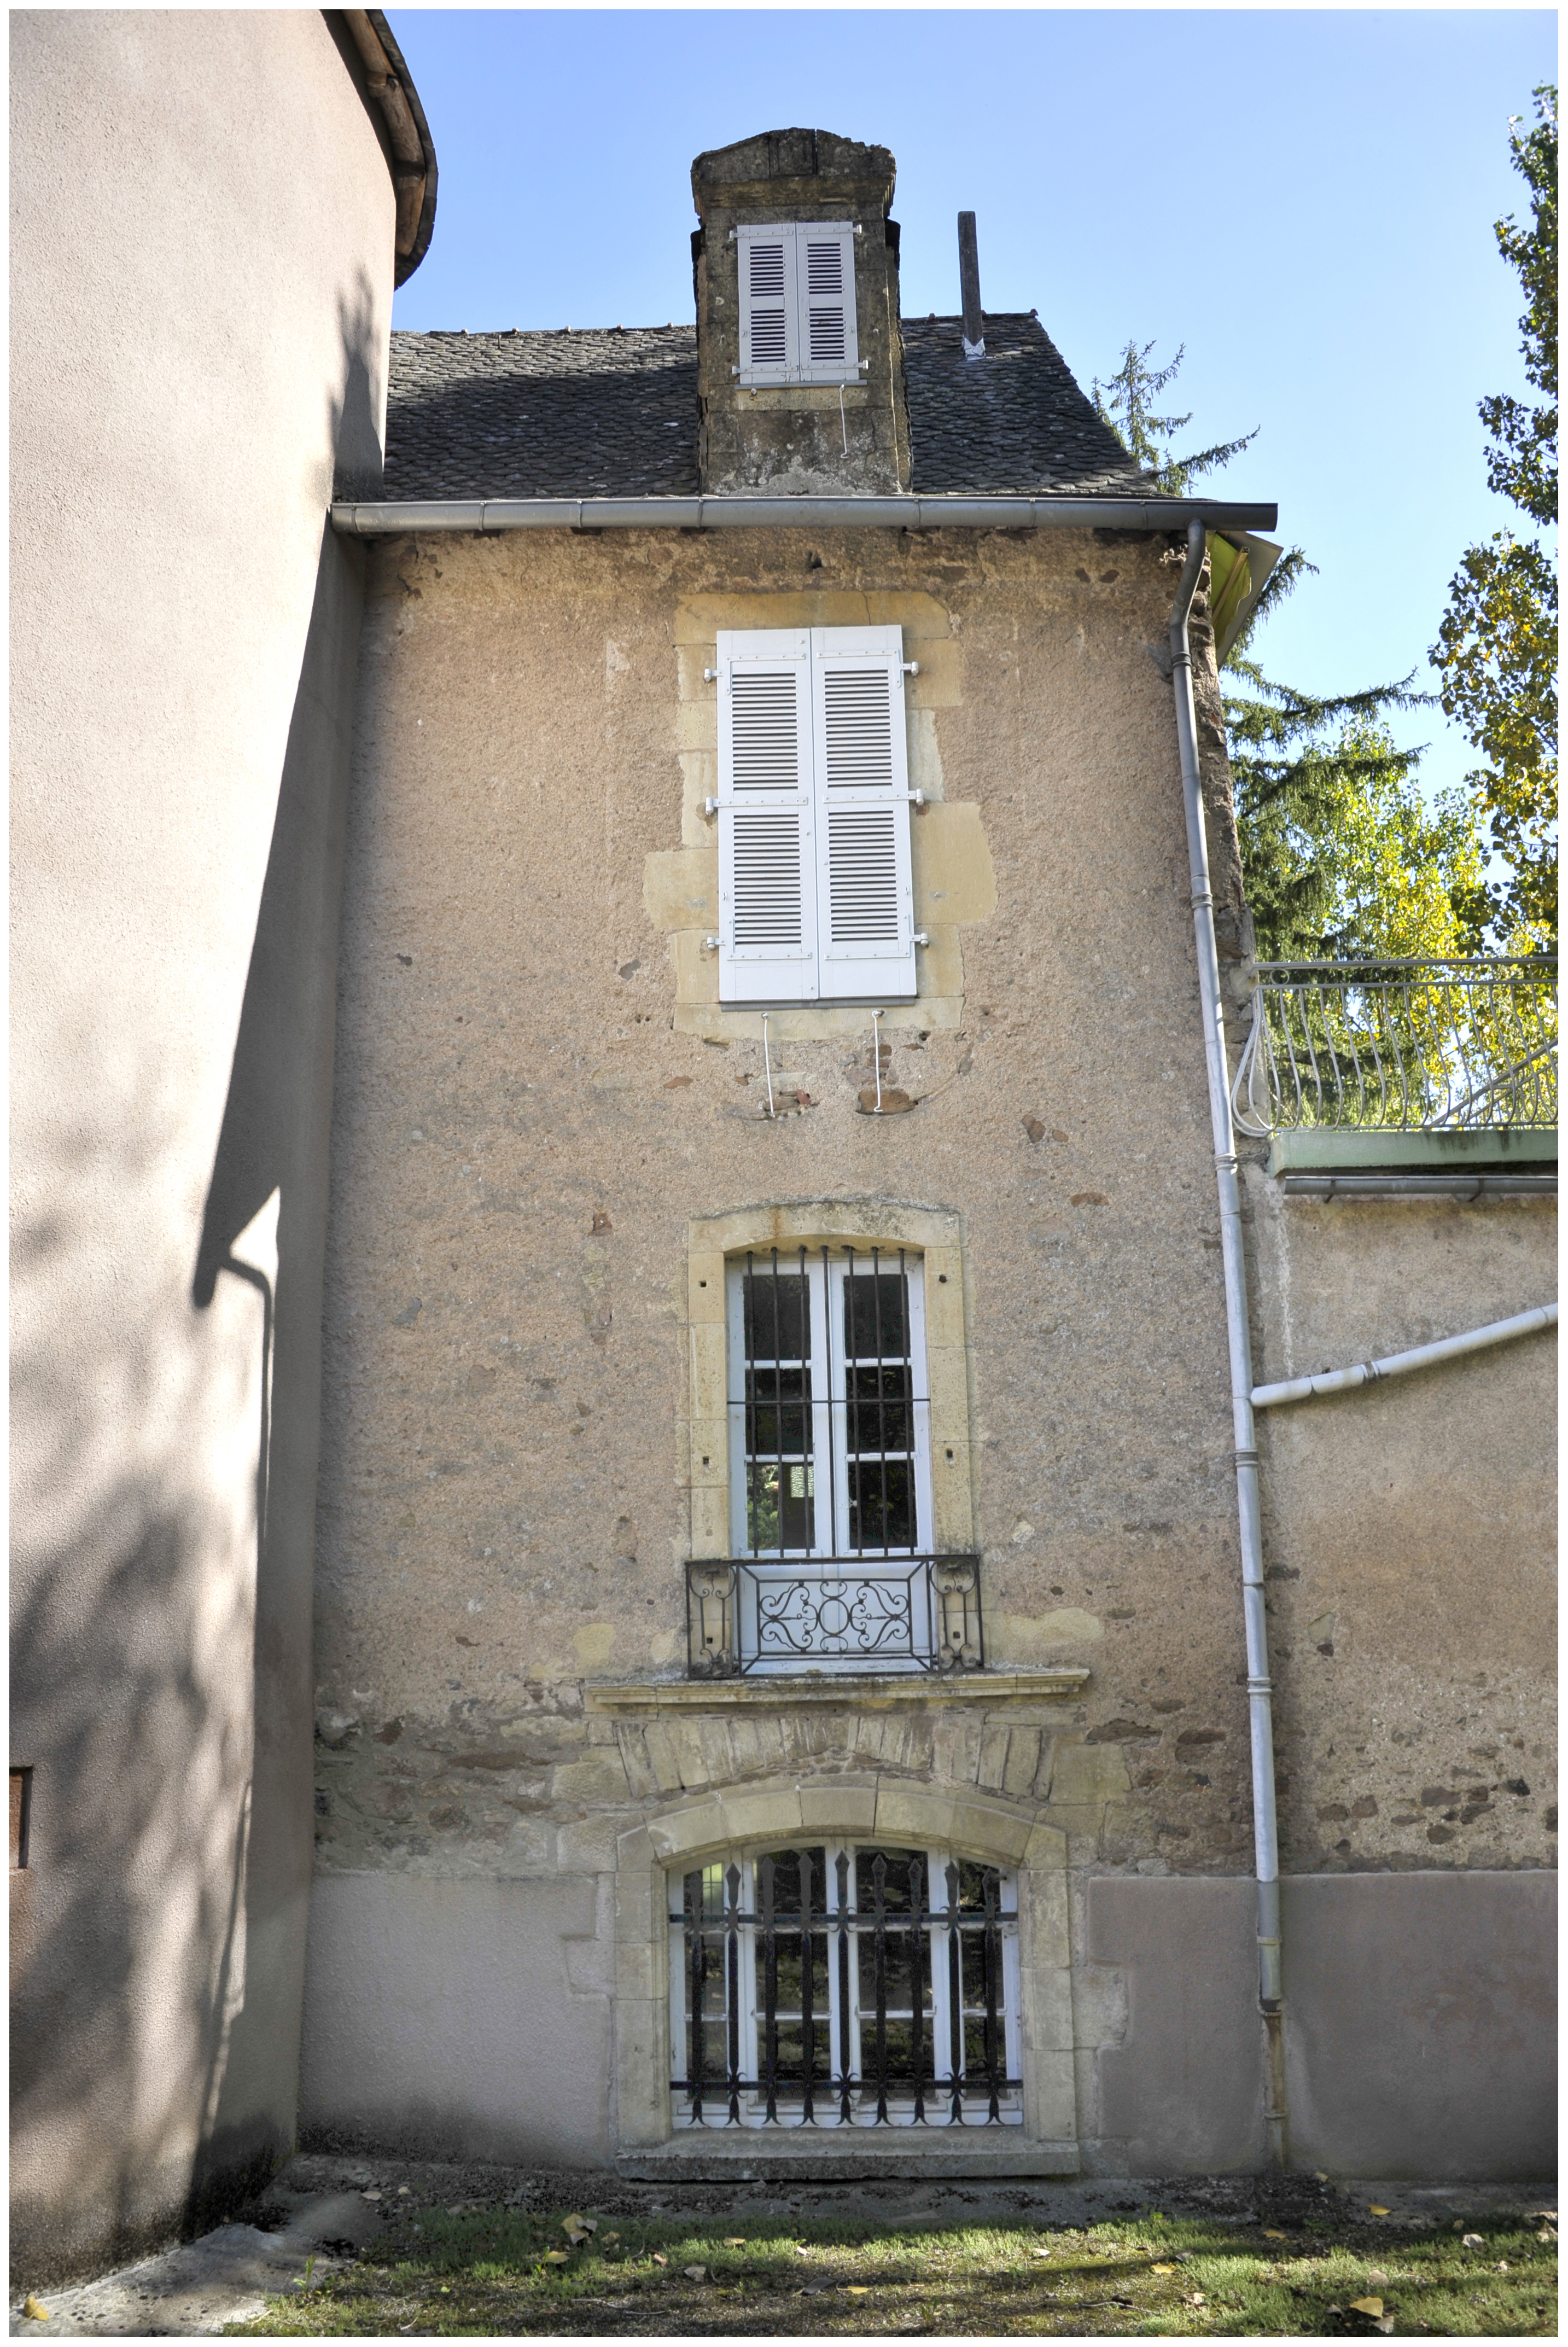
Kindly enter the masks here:
M 918 995 L 904 631 L 718 634 L 718 1000 Z

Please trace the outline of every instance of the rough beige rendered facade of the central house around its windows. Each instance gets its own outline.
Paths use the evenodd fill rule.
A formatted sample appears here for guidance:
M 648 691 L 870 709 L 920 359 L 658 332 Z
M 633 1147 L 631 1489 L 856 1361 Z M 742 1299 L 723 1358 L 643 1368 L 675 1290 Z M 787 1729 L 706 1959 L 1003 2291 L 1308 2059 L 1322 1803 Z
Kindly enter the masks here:
M 615 1913 L 650 1819 L 678 1812 L 660 1831 L 683 1847 L 742 1833 L 714 1824 L 718 1802 L 756 1833 L 784 1812 L 732 1810 L 742 1793 L 789 1802 L 819 1779 L 829 1810 L 880 1831 L 908 1786 L 960 1838 L 984 1826 L 1021 1856 L 1054 1835 L 1056 1880 L 1063 1864 L 1246 1871 L 1218 1230 L 1153 657 L 1176 568 L 1164 545 L 1073 533 L 373 552 L 317 1568 L 303 2122 L 322 2138 L 364 2126 L 371 2049 L 345 2047 L 371 1943 L 378 1981 L 401 1967 L 420 2011 L 439 2021 L 439 1976 L 451 2025 L 488 2025 L 462 1969 L 420 1955 L 418 1917 L 392 1943 L 390 1878 L 444 1878 L 488 1943 L 495 1882 L 594 1880 Z M 934 798 L 915 814 L 934 943 L 927 990 L 890 1019 L 885 1082 L 918 1098 L 899 1117 L 859 1112 L 866 1014 L 815 1009 L 775 1026 L 779 1084 L 807 1105 L 768 1122 L 758 1016 L 718 1009 L 695 951 L 714 631 L 810 617 L 899 620 L 922 669 L 908 723 Z M 768 1202 L 791 1227 L 817 1213 L 824 1232 L 922 1227 L 953 1249 L 962 1544 L 984 1554 L 995 1676 L 885 1706 L 775 1685 L 606 1709 L 613 1683 L 669 1692 L 683 1671 L 683 1561 L 718 1537 L 695 1439 L 707 1218 L 735 1218 L 723 1239 Z M 1134 1784 L 1155 1758 L 1157 1788 Z M 1049 1962 L 1045 1913 L 1040 1983 L 1066 1967 L 1066 1903 Z M 603 1927 L 519 1962 L 549 2018 L 533 2072 L 516 2033 L 505 2056 L 498 2040 L 519 2063 L 493 2084 L 516 2150 L 547 2148 L 540 2070 L 584 2011 L 606 2061 L 582 2072 L 577 2140 L 594 2075 L 599 2155 L 643 2140 L 664 2094 L 634 2075 L 660 1932 L 624 1957 L 615 2023 Z M 1035 2131 L 1061 2145 L 1075 2030 L 1099 2044 L 1117 2023 L 1094 1995 L 1040 1995 Z M 411 2091 L 411 2136 L 439 2101 Z M 469 2117 L 472 2140 L 500 2140 Z M 465 2122 L 448 2098 L 427 2124 L 460 2140 Z

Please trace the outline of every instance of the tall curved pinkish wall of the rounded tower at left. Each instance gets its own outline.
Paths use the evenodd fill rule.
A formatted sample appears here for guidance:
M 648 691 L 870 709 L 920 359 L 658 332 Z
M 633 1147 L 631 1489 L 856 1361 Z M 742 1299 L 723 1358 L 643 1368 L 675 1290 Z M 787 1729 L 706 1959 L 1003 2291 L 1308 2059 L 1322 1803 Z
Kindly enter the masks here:
M 361 577 L 324 507 L 378 465 L 392 185 L 312 12 L 14 16 L 12 181 L 12 2239 L 42 2279 L 293 2129 Z

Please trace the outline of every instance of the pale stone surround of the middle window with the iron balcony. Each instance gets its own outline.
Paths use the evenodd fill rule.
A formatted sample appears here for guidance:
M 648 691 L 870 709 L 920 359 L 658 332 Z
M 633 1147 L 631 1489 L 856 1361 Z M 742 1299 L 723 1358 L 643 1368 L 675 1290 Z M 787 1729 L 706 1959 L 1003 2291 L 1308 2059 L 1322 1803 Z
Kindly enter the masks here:
M 692 1558 L 730 1554 L 730 1382 L 725 1260 L 746 1249 L 906 1246 L 925 1258 L 925 1375 L 932 1446 L 932 1549 L 974 1551 L 972 1359 L 962 1218 L 897 1199 L 737 1206 L 685 1225 L 688 1493 Z M 984 1619 L 984 1591 L 981 1591 Z M 779 1680 L 768 1680 L 777 1690 Z

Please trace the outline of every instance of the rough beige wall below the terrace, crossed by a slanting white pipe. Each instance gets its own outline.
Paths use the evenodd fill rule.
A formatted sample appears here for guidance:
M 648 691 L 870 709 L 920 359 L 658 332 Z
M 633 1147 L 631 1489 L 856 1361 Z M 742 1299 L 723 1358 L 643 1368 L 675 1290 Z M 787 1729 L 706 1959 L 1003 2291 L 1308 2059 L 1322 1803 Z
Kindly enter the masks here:
M 1249 1169 L 1258 1380 L 1556 1296 L 1556 1202 L 1284 1197 Z M 1556 1338 L 1258 1413 L 1284 1864 L 1556 1864 Z

